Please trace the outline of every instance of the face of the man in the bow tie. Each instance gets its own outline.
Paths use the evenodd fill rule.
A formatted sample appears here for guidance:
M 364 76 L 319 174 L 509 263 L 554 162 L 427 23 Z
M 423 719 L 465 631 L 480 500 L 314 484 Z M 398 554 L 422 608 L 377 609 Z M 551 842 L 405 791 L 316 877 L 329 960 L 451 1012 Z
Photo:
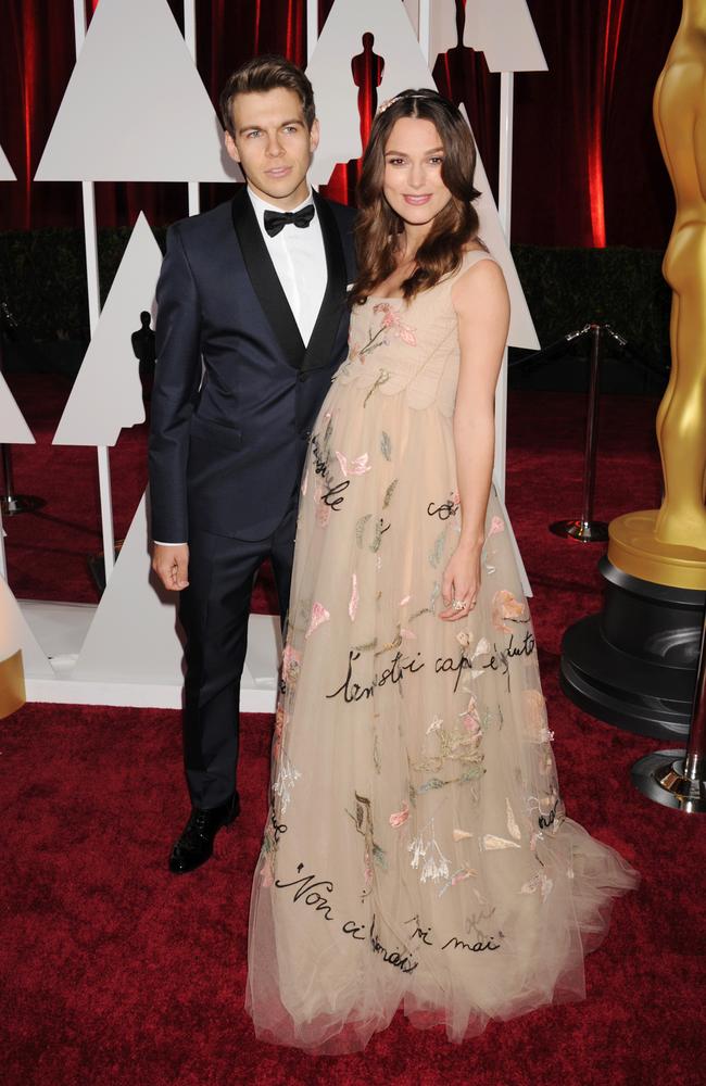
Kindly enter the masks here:
M 228 154 L 239 162 L 256 195 L 282 211 L 307 195 L 306 172 L 318 143 L 318 121 L 311 131 L 293 90 L 236 94 L 231 106 L 235 138 L 226 132 Z

